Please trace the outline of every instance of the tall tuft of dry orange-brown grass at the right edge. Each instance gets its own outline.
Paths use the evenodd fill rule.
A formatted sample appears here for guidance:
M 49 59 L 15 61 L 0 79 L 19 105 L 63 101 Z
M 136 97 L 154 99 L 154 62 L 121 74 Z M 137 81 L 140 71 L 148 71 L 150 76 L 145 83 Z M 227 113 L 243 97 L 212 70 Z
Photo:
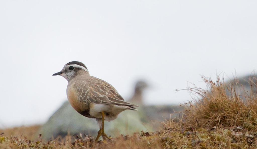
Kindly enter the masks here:
M 202 78 L 206 89 L 188 88 L 194 98 L 183 105 L 187 123 L 192 127 L 240 126 L 249 131 L 257 130 L 257 96 L 252 92 L 257 87 L 255 77 L 249 80 L 250 91 L 238 86 L 236 80 L 235 83 L 226 84 L 219 77 L 216 82 L 207 77 Z

